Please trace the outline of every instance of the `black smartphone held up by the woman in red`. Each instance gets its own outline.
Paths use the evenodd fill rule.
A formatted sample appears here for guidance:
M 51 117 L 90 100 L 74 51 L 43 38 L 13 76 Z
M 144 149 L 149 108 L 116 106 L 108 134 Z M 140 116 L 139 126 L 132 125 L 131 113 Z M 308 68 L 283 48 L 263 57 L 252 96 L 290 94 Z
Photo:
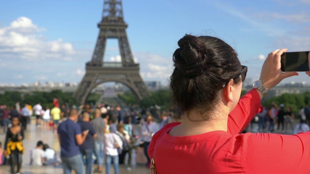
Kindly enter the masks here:
M 306 72 L 309 71 L 309 51 L 286 52 L 281 55 L 282 72 Z

